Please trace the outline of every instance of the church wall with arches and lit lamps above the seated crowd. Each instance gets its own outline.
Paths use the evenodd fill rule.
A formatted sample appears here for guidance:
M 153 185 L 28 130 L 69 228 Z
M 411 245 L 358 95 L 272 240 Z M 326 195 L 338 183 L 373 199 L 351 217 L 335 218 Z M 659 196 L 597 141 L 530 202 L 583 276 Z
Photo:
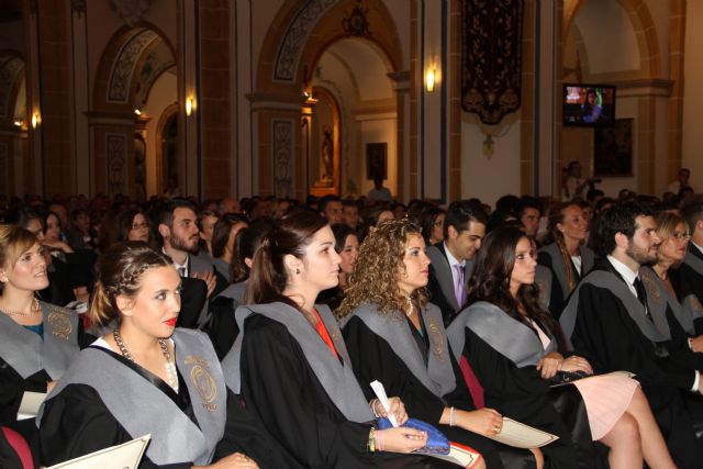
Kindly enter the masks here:
M 703 187 L 703 4 L 4 0 L 0 193 L 558 197 Z M 569 125 L 567 85 L 606 123 Z M 583 97 L 581 97 L 583 99 Z M 605 115 L 604 115 L 605 116 Z M 615 158 L 617 163 L 609 163 Z

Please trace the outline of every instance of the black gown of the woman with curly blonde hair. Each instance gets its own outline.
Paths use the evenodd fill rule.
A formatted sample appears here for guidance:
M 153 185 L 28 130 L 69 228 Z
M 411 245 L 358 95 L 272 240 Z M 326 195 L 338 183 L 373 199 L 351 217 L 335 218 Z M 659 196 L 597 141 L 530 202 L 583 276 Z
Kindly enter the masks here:
M 414 328 L 410 324 L 409 327 Z M 462 411 L 476 410 L 471 394 L 461 378 L 461 370 L 451 353 L 447 356 L 451 360 L 457 386 L 454 391 L 440 399 L 412 373 L 389 343 L 371 331 L 359 317 L 349 319 L 344 326 L 343 335 L 354 370 L 359 382 L 362 383 L 361 389 L 367 399 L 371 400 L 376 397 L 367 383 L 378 380 L 383 383 L 389 397 L 399 397 L 403 401 L 409 416 L 435 425 L 450 440 L 476 449 L 483 456 L 489 468 L 535 467 L 534 455 L 531 451 L 501 445 L 464 428 L 439 424 L 445 406 L 454 406 Z

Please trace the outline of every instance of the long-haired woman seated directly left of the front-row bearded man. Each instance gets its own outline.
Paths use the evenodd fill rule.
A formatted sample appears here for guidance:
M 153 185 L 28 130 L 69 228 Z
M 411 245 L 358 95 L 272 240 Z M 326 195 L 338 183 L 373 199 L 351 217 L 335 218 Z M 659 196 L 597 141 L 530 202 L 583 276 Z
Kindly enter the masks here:
M 547 227 L 550 239 L 539 249 L 537 261 L 551 270 L 549 311 L 558 320 L 576 284 L 593 268 L 595 255 L 584 246 L 590 226 L 578 202 L 553 206 Z

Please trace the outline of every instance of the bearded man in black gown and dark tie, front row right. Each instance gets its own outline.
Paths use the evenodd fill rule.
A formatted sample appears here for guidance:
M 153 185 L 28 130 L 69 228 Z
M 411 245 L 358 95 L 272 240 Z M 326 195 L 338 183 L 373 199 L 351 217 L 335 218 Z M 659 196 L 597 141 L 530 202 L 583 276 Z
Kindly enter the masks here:
M 573 291 L 560 323 L 595 372 L 635 373 L 677 466 L 694 468 L 703 457 L 693 431 L 703 383 L 699 371 L 671 354 L 680 344 L 655 325 L 638 275 L 657 260 L 661 243 L 652 215 L 637 202 L 603 213 L 593 234 L 601 258 Z

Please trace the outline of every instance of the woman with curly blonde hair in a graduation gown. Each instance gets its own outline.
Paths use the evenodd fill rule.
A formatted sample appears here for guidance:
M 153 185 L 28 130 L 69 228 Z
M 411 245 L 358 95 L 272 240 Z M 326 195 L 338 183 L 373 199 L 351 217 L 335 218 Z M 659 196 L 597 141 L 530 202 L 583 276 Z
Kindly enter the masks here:
M 410 416 L 481 453 L 489 468 L 542 467 L 528 450 L 486 437 L 500 433 L 503 420 L 492 409 L 476 410 L 471 401 L 442 313 L 427 303 L 428 266 L 421 231 L 408 220 L 379 225 L 361 245 L 337 315 L 367 398 L 373 397 L 368 383 L 380 381 L 403 400 Z

